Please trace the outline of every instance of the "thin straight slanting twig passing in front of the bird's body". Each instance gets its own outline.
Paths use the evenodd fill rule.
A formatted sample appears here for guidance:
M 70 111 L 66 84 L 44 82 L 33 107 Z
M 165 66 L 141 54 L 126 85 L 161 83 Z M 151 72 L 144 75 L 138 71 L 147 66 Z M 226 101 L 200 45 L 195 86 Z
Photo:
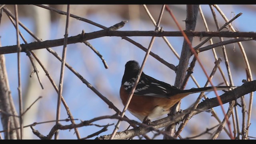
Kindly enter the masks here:
M 160 21 L 161 21 L 161 19 L 162 19 L 162 14 L 163 14 L 163 12 L 164 12 L 164 7 L 165 7 L 165 5 L 162 6 L 160 15 L 159 15 L 159 17 L 158 17 L 158 21 L 157 21 L 157 25 L 156 25 L 155 31 L 158 30 L 158 27 L 159 27 L 159 25 L 160 25 Z M 145 63 L 146 63 L 146 60 L 147 60 L 147 58 L 148 58 L 148 55 L 149 55 L 149 53 L 150 53 L 150 50 L 151 50 L 151 48 L 152 48 L 152 45 L 153 45 L 154 40 L 155 40 L 155 37 L 153 36 L 153 37 L 151 38 L 150 44 L 149 44 L 149 46 L 148 46 L 148 50 L 147 50 L 147 52 L 146 52 L 146 54 L 145 54 L 145 57 L 144 57 L 143 62 L 142 62 L 142 65 L 141 65 L 140 70 L 139 70 L 139 72 L 138 72 L 138 75 L 137 75 L 137 78 L 136 78 L 136 80 L 135 80 L 134 86 L 132 87 L 132 90 L 131 90 L 131 92 L 130 92 L 130 94 L 129 94 L 127 100 L 126 100 L 126 104 L 125 104 L 125 106 L 124 106 L 124 109 L 123 109 L 123 111 L 122 111 L 122 114 L 120 115 L 121 117 L 124 117 L 124 114 L 125 114 L 125 112 L 126 112 L 126 110 L 127 110 L 127 108 L 128 108 L 128 105 L 130 104 L 130 101 L 131 101 L 131 99 L 132 99 L 132 96 L 133 96 L 133 93 L 134 93 L 134 91 L 135 91 L 135 88 L 136 88 L 136 86 L 137 86 L 137 84 L 138 84 L 138 82 L 139 82 L 139 80 L 140 80 L 140 76 L 141 76 L 141 74 L 142 74 L 142 70 L 143 70 L 144 65 L 145 65 Z M 110 140 L 113 139 L 114 136 L 116 135 L 116 132 L 117 132 L 119 126 L 120 126 L 120 122 L 121 122 L 121 121 L 118 120 L 118 122 L 117 122 L 117 124 L 116 124 L 116 126 L 115 126 L 115 128 L 114 128 L 114 130 L 113 130 L 113 132 L 112 132 L 112 135 L 111 135 L 111 137 L 110 137 Z

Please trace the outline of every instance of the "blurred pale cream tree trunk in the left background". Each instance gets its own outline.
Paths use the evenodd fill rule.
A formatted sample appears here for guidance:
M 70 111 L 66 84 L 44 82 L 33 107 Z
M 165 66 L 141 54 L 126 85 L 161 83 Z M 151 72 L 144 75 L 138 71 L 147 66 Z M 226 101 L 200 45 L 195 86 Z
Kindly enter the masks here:
M 34 21 L 34 34 L 41 38 L 42 40 L 49 40 L 50 39 L 50 11 L 46 10 L 44 8 L 40 8 L 38 6 L 31 6 L 31 5 L 25 5 L 25 10 L 28 15 L 28 17 L 32 17 Z M 44 64 L 44 66 L 47 69 L 47 63 L 48 63 L 48 51 L 45 49 L 42 50 L 34 50 L 34 53 L 38 56 L 40 61 Z M 38 62 L 34 60 L 34 64 L 36 65 L 37 70 L 39 71 L 39 78 L 42 81 L 42 84 L 44 86 L 44 89 L 47 89 L 45 83 L 45 80 L 47 80 L 45 77 L 44 70 L 40 67 Z M 30 71 L 32 72 L 34 69 L 32 67 L 32 64 L 30 64 Z M 27 74 L 29 75 L 29 74 Z M 35 100 L 38 98 L 38 96 L 47 96 L 46 90 L 42 90 L 37 76 L 34 73 L 33 76 L 30 78 L 28 76 L 28 83 L 26 85 L 26 90 L 24 94 L 24 109 L 28 108 Z M 26 114 L 24 114 L 24 126 L 28 124 L 32 124 L 36 122 L 36 118 L 38 116 L 38 108 L 39 108 L 39 102 L 36 102 L 31 109 L 29 109 Z M 34 134 L 32 133 L 30 128 L 24 128 L 24 139 L 32 139 Z

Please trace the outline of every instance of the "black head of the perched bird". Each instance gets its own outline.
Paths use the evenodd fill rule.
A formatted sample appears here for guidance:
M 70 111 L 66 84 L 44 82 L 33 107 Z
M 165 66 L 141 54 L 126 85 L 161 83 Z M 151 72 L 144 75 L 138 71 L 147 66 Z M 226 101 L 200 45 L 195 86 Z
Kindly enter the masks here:
M 140 65 L 135 60 L 130 60 L 125 64 L 124 76 L 122 78 L 122 84 L 130 80 L 131 78 L 136 78 L 140 70 Z

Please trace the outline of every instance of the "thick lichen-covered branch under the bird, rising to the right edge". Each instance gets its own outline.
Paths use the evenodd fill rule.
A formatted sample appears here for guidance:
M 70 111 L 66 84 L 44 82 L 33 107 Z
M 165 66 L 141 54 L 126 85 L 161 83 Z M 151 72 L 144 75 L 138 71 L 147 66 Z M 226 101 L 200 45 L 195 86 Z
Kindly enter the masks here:
M 238 88 L 228 91 L 220 96 L 220 99 L 222 100 L 223 104 L 230 102 L 232 100 L 236 100 L 240 98 L 241 96 L 244 96 L 245 94 L 248 94 L 250 92 L 256 91 L 256 80 L 253 80 L 251 82 L 246 82 L 242 86 L 239 86 Z M 200 112 L 203 112 L 205 110 L 208 110 L 210 108 L 219 106 L 219 102 L 217 98 L 210 98 L 206 99 L 200 104 L 198 104 L 197 110 L 194 110 L 192 112 L 192 116 L 199 114 Z M 176 122 L 179 122 L 183 120 L 184 116 L 188 114 L 192 109 L 188 108 L 184 110 L 183 112 L 176 114 L 174 116 L 167 116 L 166 118 L 162 118 L 160 120 L 156 120 L 154 122 L 151 122 L 151 125 L 154 126 L 154 128 L 162 128 L 165 126 L 168 126 L 170 124 L 174 124 Z M 147 132 L 150 132 L 151 129 L 148 128 L 134 128 L 130 130 L 125 130 L 123 132 L 119 132 L 116 134 L 114 139 L 127 139 L 127 138 L 132 138 L 134 136 L 138 135 L 143 135 L 146 134 Z M 109 139 L 110 135 L 105 135 L 105 136 L 100 136 L 96 139 Z

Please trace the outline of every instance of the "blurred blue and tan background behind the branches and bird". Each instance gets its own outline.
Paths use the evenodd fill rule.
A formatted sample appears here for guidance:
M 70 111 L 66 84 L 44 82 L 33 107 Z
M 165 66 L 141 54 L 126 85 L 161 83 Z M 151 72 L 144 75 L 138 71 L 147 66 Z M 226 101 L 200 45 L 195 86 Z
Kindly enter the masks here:
M 47 5 L 58 10 L 66 12 L 66 5 Z M 179 24 L 185 29 L 186 20 L 186 5 L 168 5 L 172 10 Z M 11 10 L 14 14 L 14 5 L 6 5 L 7 8 Z M 147 5 L 148 10 L 157 21 L 160 14 L 162 5 Z M 242 12 L 242 16 L 237 18 L 232 25 L 237 31 L 240 32 L 255 32 L 256 31 L 256 19 L 254 18 L 256 14 L 256 5 L 219 5 L 224 14 L 226 14 L 228 19 L 233 18 L 236 14 Z M 208 5 L 201 5 L 204 16 L 206 17 L 206 22 L 209 26 L 210 31 L 215 31 L 216 26 L 210 12 Z M 146 14 L 145 9 L 142 5 L 70 5 L 70 13 L 82 18 L 86 18 L 98 24 L 101 24 L 106 27 L 113 26 L 116 23 L 121 22 L 122 20 L 128 20 L 123 28 L 119 30 L 154 30 L 155 26 L 150 21 L 149 16 Z M 66 16 L 57 14 L 50 10 L 40 8 L 34 5 L 18 5 L 18 14 L 19 20 L 29 28 L 36 36 L 44 40 L 54 40 L 59 38 L 64 38 Z M 225 21 L 216 12 L 218 17 L 218 22 L 222 26 Z M 177 26 L 173 22 L 170 14 L 167 11 L 164 11 L 162 21 L 160 26 L 163 27 L 164 31 L 178 31 Z M 68 30 L 68 36 L 76 36 L 84 30 L 85 32 L 94 32 L 102 30 L 96 26 L 82 22 L 80 20 L 70 18 L 70 25 Z M 229 30 L 228 28 L 226 30 Z M 32 38 L 23 28 L 20 27 L 20 31 L 26 38 L 27 42 L 36 41 Z M 198 14 L 196 30 L 195 31 L 205 31 L 204 25 L 202 23 L 202 18 Z M 0 36 L 2 46 L 12 46 L 16 45 L 16 30 L 10 20 L 7 18 L 6 14 L 2 12 L 2 20 L 0 24 Z M 148 48 L 151 37 L 130 37 L 132 40 L 142 44 L 142 46 Z M 183 38 L 182 37 L 167 37 L 169 42 L 172 44 L 174 49 L 180 55 Z M 205 38 L 202 38 L 204 40 Z M 196 46 L 202 40 L 195 37 L 192 43 L 192 46 Z M 228 38 L 224 38 L 228 40 Z M 92 86 L 94 86 L 102 95 L 104 95 L 108 100 L 110 100 L 119 110 L 122 110 L 124 106 L 121 103 L 119 98 L 119 88 L 121 85 L 122 76 L 124 74 L 124 65 L 128 60 L 136 60 L 140 64 L 144 59 L 145 52 L 140 48 L 134 46 L 126 40 L 122 40 L 120 37 L 102 37 L 93 40 L 88 40 L 92 46 L 94 46 L 103 58 L 106 60 L 109 68 L 105 69 L 102 63 L 102 60 L 85 44 L 76 43 L 69 44 L 67 46 L 67 55 L 66 62 L 70 64 L 77 72 L 79 72 L 83 78 L 85 78 Z M 213 38 L 213 42 L 219 42 L 219 38 Z M 24 42 L 21 40 L 21 43 Z M 248 56 L 249 64 L 251 66 L 253 78 L 255 78 L 256 73 L 256 50 L 255 50 L 255 41 L 246 41 L 242 42 L 244 45 L 246 54 Z M 204 44 L 204 46 L 209 45 L 209 42 Z M 59 56 L 62 56 L 63 46 L 58 46 L 52 48 L 55 50 Z M 215 48 L 217 56 L 223 58 L 222 49 L 220 47 Z M 226 45 L 226 50 L 228 54 L 228 59 L 230 62 L 230 68 L 232 72 L 232 77 L 235 86 L 242 85 L 242 80 L 246 79 L 245 64 L 242 58 L 242 54 L 237 44 L 228 44 Z M 61 62 L 57 60 L 52 54 L 50 54 L 46 49 L 34 50 L 44 66 L 46 66 L 49 74 L 54 79 L 56 85 L 58 86 L 60 78 L 60 67 Z M 178 59 L 172 53 L 170 48 L 166 45 L 162 38 L 157 37 L 153 47 L 152 52 L 166 60 L 167 62 L 178 65 Z M 18 73 L 17 73 L 17 54 L 5 54 L 6 58 L 6 69 L 8 72 L 8 79 L 11 89 L 11 94 L 14 99 L 16 110 L 18 111 Z M 214 56 L 212 52 L 206 51 L 202 52 L 199 55 L 200 60 L 202 61 L 204 68 L 210 74 L 212 68 L 214 67 Z M 192 59 L 191 59 L 192 60 Z M 190 61 L 191 61 L 190 60 Z M 44 122 L 48 120 L 55 120 L 56 118 L 56 107 L 57 107 L 57 96 L 58 94 L 54 90 L 52 84 L 48 80 L 46 74 L 42 68 L 38 65 L 36 60 L 37 69 L 40 74 L 40 79 L 44 86 L 44 90 L 40 87 L 36 74 L 30 74 L 33 71 L 31 62 L 26 56 L 26 53 L 21 53 L 21 74 L 22 74 L 22 96 L 23 96 L 23 106 L 24 109 L 28 108 L 38 96 L 42 98 L 32 106 L 30 110 L 24 115 L 24 126 L 32 124 L 34 122 Z M 225 63 L 220 64 L 222 70 L 227 77 L 227 70 Z M 152 76 L 158 80 L 174 84 L 175 72 L 160 63 L 158 60 L 149 56 L 146 65 L 144 67 L 144 73 Z M 207 78 L 202 72 L 202 69 L 196 64 L 194 68 L 194 77 L 200 84 L 204 86 Z M 228 78 L 228 77 L 227 77 Z M 220 72 L 217 71 L 213 78 L 214 85 L 222 83 L 222 77 Z M 185 89 L 190 89 L 196 87 L 194 82 L 190 79 Z M 223 92 L 219 92 L 222 94 Z M 114 110 L 108 108 L 108 105 L 104 103 L 92 90 L 90 90 L 82 81 L 77 78 L 68 68 L 65 68 L 64 71 L 64 85 L 63 93 L 64 99 L 66 100 L 70 111 L 72 112 L 74 118 L 79 120 L 90 120 L 98 116 L 113 115 L 115 114 Z M 198 94 L 193 94 L 182 100 L 181 109 L 184 110 L 191 106 L 196 100 Z M 215 94 L 210 92 L 207 94 L 209 98 L 215 97 Z M 248 110 L 249 95 L 245 96 L 246 108 Z M 240 103 L 240 99 L 238 99 Z M 256 137 L 256 110 L 255 110 L 255 100 L 253 102 L 252 108 L 252 118 L 249 136 Z M 224 104 L 225 110 L 228 109 L 228 104 Z M 222 120 L 224 118 L 220 107 L 214 108 L 218 113 L 218 116 Z M 241 108 L 238 107 L 239 112 L 239 123 L 240 128 L 242 122 L 242 113 Z M 136 117 L 132 116 L 130 112 L 125 114 L 128 118 L 139 121 Z M 61 105 L 61 117 L 60 119 L 68 118 L 66 110 L 63 105 Z M 79 123 L 80 121 L 76 121 Z M 231 118 L 230 118 L 231 120 Z M 95 122 L 95 124 L 116 124 L 117 120 L 100 120 Z M 63 125 L 70 124 L 70 122 L 60 122 Z M 34 126 L 36 130 L 44 134 L 45 136 L 50 132 L 52 126 L 55 122 L 38 124 Z M 218 124 L 218 121 L 211 116 L 211 113 L 202 112 L 194 117 L 188 122 L 186 128 L 182 131 L 181 136 L 186 138 L 188 136 L 194 136 L 205 131 L 206 128 L 211 128 Z M 129 126 L 126 122 L 121 122 L 119 131 L 126 130 Z M 0 129 L 2 130 L 2 125 L 0 124 Z M 78 128 L 81 138 L 88 136 L 94 132 L 97 132 L 101 128 L 96 126 L 84 126 Z M 100 135 L 111 134 L 114 129 L 114 126 L 108 127 L 108 131 L 103 132 Z M 3 133 L 2 133 L 3 134 Z M 76 139 L 74 134 L 74 129 L 72 130 L 61 130 L 59 132 L 60 139 Z M 152 133 L 148 134 L 152 136 Z M 32 130 L 27 127 L 24 128 L 24 138 L 26 139 L 38 139 L 32 133 Z M 94 137 L 90 139 L 94 139 Z M 208 139 L 210 134 L 205 134 L 198 139 Z M 134 139 L 138 139 L 135 137 Z M 156 137 L 156 139 L 162 139 L 162 136 Z M 222 132 L 218 139 L 229 139 L 228 135 L 225 132 Z

